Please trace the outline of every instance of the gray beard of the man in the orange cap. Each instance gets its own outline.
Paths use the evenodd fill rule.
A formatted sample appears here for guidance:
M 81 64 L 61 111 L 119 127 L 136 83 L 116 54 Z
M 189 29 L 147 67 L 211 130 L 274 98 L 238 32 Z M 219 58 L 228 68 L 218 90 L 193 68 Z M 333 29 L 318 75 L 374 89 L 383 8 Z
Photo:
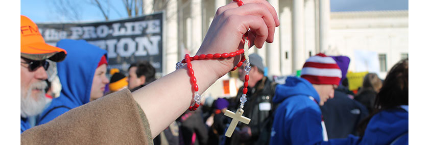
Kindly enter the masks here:
M 28 90 L 22 90 L 21 88 L 21 117 L 27 118 L 42 113 L 44 107 L 48 102 L 45 96 L 44 89 L 47 87 L 45 81 L 33 83 Z M 41 89 L 40 93 L 36 94 L 36 99 L 33 99 L 31 92 L 33 88 Z

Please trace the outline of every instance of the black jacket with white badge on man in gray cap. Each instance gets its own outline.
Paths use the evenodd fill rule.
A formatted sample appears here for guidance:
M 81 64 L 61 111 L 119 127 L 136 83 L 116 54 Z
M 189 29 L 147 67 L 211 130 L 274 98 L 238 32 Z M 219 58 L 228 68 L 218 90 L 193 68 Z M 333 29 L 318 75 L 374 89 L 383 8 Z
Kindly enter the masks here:
M 248 126 L 251 129 L 252 136 L 250 139 L 241 138 L 241 136 L 235 131 L 230 140 L 230 144 L 266 144 L 268 143 L 270 136 L 270 125 L 268 123 L 269 117 L 273 114 L 275 106 L 273 106 L 272 99 L 275 93 L 275 86 L 277 84 L 272 82 L 267 77 L 264 77 L 258 81 L 255 87 L 248 87 L 247 91 L 247 102 L 244 105 L 244 116 L 250 118 L 249 125 L 239 123 L 237 127 Z M 243 87 L 239 89 L 237 96 L 235 97 L 232 106 L 229 106 L 229 110 L 235 112 L 240 108 L 240 98 L 243 94 Z M 262 134 L 262 135 L 261 135 Z

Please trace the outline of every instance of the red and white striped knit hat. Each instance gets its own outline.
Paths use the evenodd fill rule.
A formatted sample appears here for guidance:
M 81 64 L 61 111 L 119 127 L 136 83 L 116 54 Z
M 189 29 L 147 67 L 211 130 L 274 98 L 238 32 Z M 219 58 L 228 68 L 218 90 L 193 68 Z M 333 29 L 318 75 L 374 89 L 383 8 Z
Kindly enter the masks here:
M 308 58 L 301 70 L 301 78 L 312 84 L 339 85 L 341 77 L 341 69 L 335 60 L 322 53 Z

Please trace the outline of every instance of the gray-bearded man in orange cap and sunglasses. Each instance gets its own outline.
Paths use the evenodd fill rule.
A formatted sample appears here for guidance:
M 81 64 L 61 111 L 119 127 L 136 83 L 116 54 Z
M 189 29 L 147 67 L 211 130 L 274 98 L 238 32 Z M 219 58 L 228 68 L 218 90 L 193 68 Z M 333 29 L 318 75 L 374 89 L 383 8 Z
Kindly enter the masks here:
M 21 133 L 29 128 L 28 118 L 40 114 L 46 105 L 46 59 L 60 62 L 67 52 L 46 44 L 36 24 L 21 15 Z M 43 66 L 43 67 L 40 67 Z

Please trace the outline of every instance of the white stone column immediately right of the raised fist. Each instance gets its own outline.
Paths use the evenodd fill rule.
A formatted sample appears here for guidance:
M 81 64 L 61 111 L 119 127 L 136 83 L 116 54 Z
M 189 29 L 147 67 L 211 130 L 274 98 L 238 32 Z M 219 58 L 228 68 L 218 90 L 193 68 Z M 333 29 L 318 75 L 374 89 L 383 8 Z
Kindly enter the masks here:
M 279 0 L 269 0 L 268 1 L 276 10 L 277 15 L 279 15 Z M 278 27 L 275 28 L 274 32 L 274 40 L 273 43 L 267 44 L 267 67 L 268 67 L 268 75 L 279 76 L 280 73 L 280 29 Z

